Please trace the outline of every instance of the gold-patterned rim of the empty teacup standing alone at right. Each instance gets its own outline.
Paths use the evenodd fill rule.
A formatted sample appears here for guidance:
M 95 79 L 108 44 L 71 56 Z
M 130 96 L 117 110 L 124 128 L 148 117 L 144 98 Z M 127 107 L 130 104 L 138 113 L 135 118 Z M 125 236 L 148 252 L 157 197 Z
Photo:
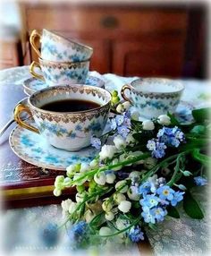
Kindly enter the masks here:
M 181 89 L 180 90 L 173 90 L 173 91 L 156 91 L 156 92 L 152 92 L 150 90 L 140 90 L 141 88 L 141 81 L 169 81 L 169 82 L 174 82 L 178 85 L 180 85 Z M 136 81 L 140 81 L 139 85 L 139 90 L 136 90 L 136 88 L 134 87 L 134 85 L 132 85 L 132 83 L 135 83 Z M 159 78 L 159 77 L 145 77 L 145 78 L 138 78 L 136 80 L 131 81 L 131 83 L 129 84 L 129 86 L 131 87 L 131 90 L 134 90 L 135 92 L 141 94 L 141 95 L 151 95 L 151 96 L 157 96 L 157 97 L 166 97 L 166 96 L 172 96 L 173 94 L 178 94 L 181 93 L 182 90 L 184 90 L 184 85 L 181 83 L 181 81 L 175 81 L 173 79 L 168 79 L 168 78 Z

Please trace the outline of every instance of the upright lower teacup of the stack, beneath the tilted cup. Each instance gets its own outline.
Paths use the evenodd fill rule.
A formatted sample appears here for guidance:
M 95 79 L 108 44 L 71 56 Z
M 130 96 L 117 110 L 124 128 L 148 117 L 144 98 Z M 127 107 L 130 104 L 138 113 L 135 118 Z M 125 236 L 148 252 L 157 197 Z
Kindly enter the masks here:
M 49 86 L 85 83 L 89 73 L 89 60 L 75 63 L 56 63 L 39 58 L 39 63 L 30 64 L 30 73 Z M 35 71 L 35 67 L 41 69 L 43 75 Z

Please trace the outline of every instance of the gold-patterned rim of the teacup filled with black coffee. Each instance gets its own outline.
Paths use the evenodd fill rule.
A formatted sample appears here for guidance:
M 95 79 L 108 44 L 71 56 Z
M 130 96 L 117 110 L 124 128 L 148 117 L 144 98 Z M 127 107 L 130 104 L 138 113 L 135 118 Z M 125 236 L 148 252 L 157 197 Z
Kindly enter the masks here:
M 85 90 L 89 90 L 89 89 L 92 89 L 92 90 L 101 90 L 101 91 L 104 91 L 105 94 L 107 94 L 109 96 L 109 100 L 107 103 L 105 103 L 104 105 L 100 106 L 100 107 L 95 107 L 95 108 L 91 108 L 91 109 L 87 109 L 87 110 L 82 110 L 82 111 L 73 111 L 73 112 L 57 112 L 57 111 L 49 111 L 49 110 L 44 110 L 42 108 L 39 108 L 39 107 L 35 107 L 31 102 L 30 102 L 30 99 L 31 98 L 34 98 L 36 97 L 36 95 L 40 94 L 40 93 L 43 93 L 45 92 L 46 90 L 55 90 L 55 89 L 68 89 L 68 88 L 74 88 L 74 87 L 77 87 L 79 89 L 81 89 L 83 87 L 83 89 Z M 29 106 L 36 109 L 37 111 L 39 112 L 43 112 L 45 114 L 55 114 L 55 115 L 80 115 L 80 114 L 83 114 L 83 115 L 86 115 L 86 114 L 90 114 L 92 112 L 96 112 L 102 108 L 105 108 L 107 107 L 108 105 L 111 104 L 111 99 L 112 99 L 112 96 L 111 96 L 111 93 L 108 91 L 108 90 L 105 90 L 103 88 L 97 88 L 95 86 L 92 86 L 92 85 L 86 85 L 86 84 L 68 84 L 68 85 L 55 85 L 55 86 L 51 86 L 51 87 L 48 87 L 48 88 L 45 88 L 45 89 L 42 89 L 42 90 L 38 90 L 36 92 L 34 92 L 33 94 L 31 94 L 31 96 L 29 97 L 28 99 L 28 103 L 29 103 Z

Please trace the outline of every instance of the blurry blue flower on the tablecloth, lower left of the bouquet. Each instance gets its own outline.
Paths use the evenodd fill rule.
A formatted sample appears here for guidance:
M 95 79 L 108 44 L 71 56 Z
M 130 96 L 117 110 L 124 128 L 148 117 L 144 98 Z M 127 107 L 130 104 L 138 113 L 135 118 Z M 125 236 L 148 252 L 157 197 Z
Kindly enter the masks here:
M 42 230 L 41 237 L 46 246 L 53 246 L 58 241 L 58 228 L 56 224 L 48 223 Z

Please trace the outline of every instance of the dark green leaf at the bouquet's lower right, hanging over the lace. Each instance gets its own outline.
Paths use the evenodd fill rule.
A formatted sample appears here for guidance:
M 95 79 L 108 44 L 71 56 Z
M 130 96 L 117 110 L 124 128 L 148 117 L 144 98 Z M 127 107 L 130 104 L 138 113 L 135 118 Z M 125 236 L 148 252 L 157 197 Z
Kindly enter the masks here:
M 202 219 L 204 214 L 200 209 L 198 202 L 192 197 L 190 192 L 185 192 L 183 200 L 183 209 L 190 218 Z

